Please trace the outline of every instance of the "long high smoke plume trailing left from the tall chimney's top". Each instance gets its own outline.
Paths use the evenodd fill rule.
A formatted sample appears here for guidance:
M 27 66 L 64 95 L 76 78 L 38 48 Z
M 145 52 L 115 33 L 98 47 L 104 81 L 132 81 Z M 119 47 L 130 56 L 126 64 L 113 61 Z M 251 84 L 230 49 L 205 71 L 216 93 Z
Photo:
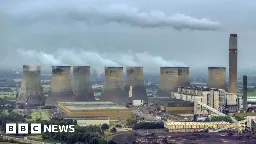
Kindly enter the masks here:
M 10 14 L 22 23 L 35 22 L 84 22 L 85 24 L 102 25 L 108 23 L 155 28 L 172 27 L 177 30 L 217 30 L 218 21 L 205 18 L 194 18 L 176 13 L 167 15 L 162 11 L 142 11 L 125 4 L 89 6 L 86 1 L 63 0 L 27 0 L 12 7 Z

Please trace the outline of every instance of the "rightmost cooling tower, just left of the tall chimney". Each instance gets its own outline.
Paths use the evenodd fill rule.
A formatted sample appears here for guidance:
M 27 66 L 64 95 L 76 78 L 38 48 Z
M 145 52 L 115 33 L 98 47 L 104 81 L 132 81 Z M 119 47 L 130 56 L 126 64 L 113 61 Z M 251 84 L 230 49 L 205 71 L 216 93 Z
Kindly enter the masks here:
M 208 84 L 209 88 L 226 90 L 226 68 L 225 67 L 208 67 Z

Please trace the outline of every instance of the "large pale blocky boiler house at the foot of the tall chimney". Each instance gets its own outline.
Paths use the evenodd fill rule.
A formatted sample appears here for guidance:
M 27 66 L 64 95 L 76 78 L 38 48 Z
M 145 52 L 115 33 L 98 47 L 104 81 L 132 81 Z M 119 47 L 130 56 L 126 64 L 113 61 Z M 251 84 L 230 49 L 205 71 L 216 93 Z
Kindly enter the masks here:
M 198 102 L 207 104 L 208 106 L 222 112 L 224 108 L 228 111 L 237 111 L 237 95 L 228 93 L 223 89 L 198 88 L 198 87 L 179 87 L 177 93 L 172 93 L 172 98 L 184 101 L 194 102 L 194 113 L 201 115 L 211 114 L 208 109 L 199 105 Z M 233 107 L 236 105 L 236 107 Z

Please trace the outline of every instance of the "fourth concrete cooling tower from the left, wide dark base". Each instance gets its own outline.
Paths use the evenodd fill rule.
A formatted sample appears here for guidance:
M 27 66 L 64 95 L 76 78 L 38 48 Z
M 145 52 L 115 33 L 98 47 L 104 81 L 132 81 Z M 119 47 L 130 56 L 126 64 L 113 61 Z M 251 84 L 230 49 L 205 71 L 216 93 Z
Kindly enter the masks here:
M 123 67 L 105 67 L 101 101 L 112 101 L 117 104 L 127 104 L 128 94 L 124 90 Z

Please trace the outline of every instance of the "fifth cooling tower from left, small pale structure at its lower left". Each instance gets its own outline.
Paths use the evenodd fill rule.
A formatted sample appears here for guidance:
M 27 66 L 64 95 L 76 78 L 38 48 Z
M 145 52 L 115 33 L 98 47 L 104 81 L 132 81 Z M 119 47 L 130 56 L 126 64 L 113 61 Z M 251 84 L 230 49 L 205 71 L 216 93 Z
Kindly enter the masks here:
M 148 96 L 144 86 L 143 67 L 127 67 L 126 68 L 126 86 L 128 92 L 132 86 L 131 100 L 148 101 Z

